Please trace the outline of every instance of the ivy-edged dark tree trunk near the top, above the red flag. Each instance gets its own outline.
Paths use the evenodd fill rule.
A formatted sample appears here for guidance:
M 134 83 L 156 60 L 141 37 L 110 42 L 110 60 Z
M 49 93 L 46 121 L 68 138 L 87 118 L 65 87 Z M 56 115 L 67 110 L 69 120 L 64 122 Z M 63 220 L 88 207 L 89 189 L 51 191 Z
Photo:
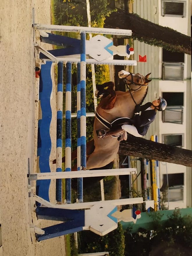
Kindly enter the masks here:
M 106 17 L 104 27 L 131 29 L 131 38 L 140 42 L 163 47 L 169 51 L 191 54 L 191 38 L 189 36 L 142 19 L 134 13 L 125 13 L 124 10 L 118 9 L 117 12 Z

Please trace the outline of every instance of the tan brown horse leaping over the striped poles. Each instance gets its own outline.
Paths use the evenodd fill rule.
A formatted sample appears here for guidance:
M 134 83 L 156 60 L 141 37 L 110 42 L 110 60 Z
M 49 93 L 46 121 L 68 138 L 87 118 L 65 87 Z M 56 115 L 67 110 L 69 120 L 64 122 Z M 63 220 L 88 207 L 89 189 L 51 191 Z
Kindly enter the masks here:
M 118 72 L 120 79 L 129 88 L 128 91 L 115 91 L 112 81 L 97 86 L 96 96 L 102 96 L 96 109 L 96 117 L 93 125 L 93 140 L 87 143 L 87 162 L 86 168 L 82 169 L 98 169 L 112 163 L 119 149 L 118 137 L 107 137 L 98 139 L 97 130 L 105 129 L 106 122 L 109 125 L 118 118 L 132 118 L 136 104 L 142 104 L 147 95 L 148 83 L 152 79 L 148 79 L 151 73 L 145 77 L 139 73 L 132 74 L 125 70 Z M 104 120 L 100 120 L 104 118 Z M 109 128 L 108 128 L 109 129 Z M 72 159 L 77 157 L 77 150 L 72 152 Z M 55 161 L 55 160 L 54 160 Z M 62 158 L 65 162 L 65 157 Z M 55 162 L 54 162 L 55 163 Z M 76 168 L 74 167 L 73 170 Z

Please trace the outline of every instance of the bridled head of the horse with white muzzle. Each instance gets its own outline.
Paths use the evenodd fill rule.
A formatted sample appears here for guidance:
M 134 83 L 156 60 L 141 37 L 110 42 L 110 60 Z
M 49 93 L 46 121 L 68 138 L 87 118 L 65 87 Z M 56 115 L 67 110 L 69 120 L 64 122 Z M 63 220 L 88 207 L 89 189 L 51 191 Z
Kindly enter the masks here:
M 124 79 L 126 85 L 132 90 L 139 90 L 142 86 L 147 86 L 152 79 L 148 79 L 151 73 L 145 77 L 139 73 L 132 74 L 125 70 L 121 70 L 118 73 L 119 78 Z

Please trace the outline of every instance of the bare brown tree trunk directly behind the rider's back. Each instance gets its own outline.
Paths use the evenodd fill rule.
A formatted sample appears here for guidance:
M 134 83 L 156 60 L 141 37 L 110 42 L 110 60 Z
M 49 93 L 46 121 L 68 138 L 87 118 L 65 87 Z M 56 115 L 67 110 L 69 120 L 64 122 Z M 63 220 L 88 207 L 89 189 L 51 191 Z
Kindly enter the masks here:
M 149 141 L 130 134 L 128 134 L 127 141 L 120 143 L 118 154 L 192 167 L 191 150 Z

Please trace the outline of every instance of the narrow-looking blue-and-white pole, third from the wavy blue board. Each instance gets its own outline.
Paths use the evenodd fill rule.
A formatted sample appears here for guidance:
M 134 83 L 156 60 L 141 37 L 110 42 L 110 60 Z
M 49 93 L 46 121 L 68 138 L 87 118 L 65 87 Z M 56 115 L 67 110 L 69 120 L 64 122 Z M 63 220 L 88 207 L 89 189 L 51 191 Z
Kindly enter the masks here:
M 80 84 L 80 62 L 77 63 L 77 170 L 81 170 L 81 84 Z M 83 178 L 77 179 L 77 198 L 83 202 Z

